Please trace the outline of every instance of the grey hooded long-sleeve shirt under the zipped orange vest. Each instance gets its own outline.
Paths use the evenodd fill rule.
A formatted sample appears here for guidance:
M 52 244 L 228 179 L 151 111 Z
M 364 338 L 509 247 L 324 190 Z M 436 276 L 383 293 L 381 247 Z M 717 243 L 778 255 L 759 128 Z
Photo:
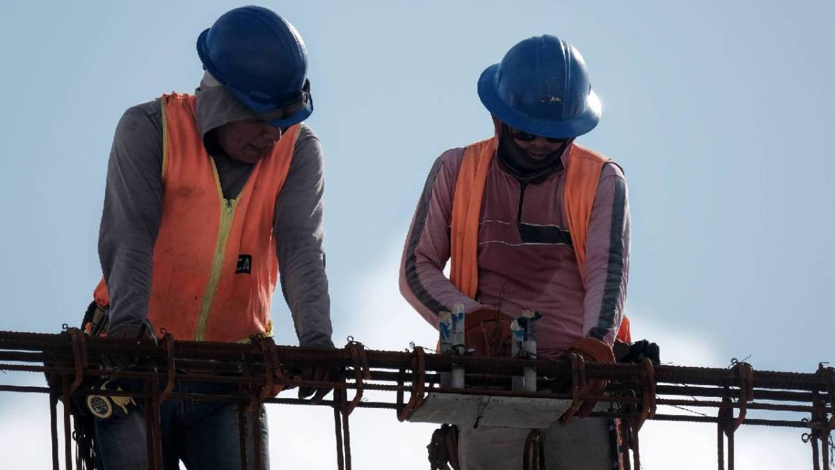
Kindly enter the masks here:
M 228 122 L 255 117 L 223 87 L 197 89 L 195 123 L 207 135 Z M 162 221 L 162 114 L 159 100 L 125 111 L 110 151 L 99 259 L 110 296 L 110 331 L 138 326 L 148 312 L 154 243 Z M 253 165 L 213 150 L 225 197 L 243 189 Z M 303 346 L 332 346 L 330 297 L 322 247 L 322 154 L 301 125 L 290 170 L 276 198 L 273 235 L 281 291 Z

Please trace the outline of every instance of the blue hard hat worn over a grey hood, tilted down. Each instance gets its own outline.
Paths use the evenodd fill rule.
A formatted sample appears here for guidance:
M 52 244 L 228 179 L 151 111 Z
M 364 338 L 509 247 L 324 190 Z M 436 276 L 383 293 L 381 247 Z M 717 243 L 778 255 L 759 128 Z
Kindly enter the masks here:
M 224 13 L 200 33 L 197 54 L 204 69 L 271 125 L 298 124 L 313 112 L 305 43 L 272 10 Z

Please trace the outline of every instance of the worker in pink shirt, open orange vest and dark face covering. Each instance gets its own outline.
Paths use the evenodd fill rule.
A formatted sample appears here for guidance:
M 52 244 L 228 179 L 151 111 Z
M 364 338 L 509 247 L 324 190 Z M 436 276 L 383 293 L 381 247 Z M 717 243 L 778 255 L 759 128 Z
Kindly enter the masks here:
M 503 354 L 504 345 L 487 344 L 485 324 L 507 329 L 510 319 L 535 309 L 543 314 L 539 359 L 576 351 L 613 361 L 629 204 L 620 167 L 574 141 L 600 120 L 583 58 L 554 36 L 525 39 L 484 70 L 478 96 L 494 135 L 435 161 L 403 250 L 403 296 L 436 328 L 439 311 L 463 304 L 468 348 L 477 354 Z M 589 384 L 593 394 L 604 386 Z M 580 414 L 594 406 L 584 403 Z M 521 469 L 529 431 L 459 427 L 458 463 Z M 554 424 L 541 431 L 541 442 L 549 470 L 613 466 L 605 418 Z

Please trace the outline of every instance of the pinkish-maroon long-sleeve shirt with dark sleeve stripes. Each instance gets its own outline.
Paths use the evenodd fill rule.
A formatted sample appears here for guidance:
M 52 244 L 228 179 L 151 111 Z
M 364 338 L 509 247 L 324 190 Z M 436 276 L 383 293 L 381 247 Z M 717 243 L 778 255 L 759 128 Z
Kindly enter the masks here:
M 565 171 L 522 184 L 493 159 L 478 226 L 478 290 L 470 299 L 443 273 L 463 154 L 446 151 L 429 171 L 403 248 L 403 296 L 436 328 L 438 311 L 458 303 L 468 312 L 498 308 L 513 317 L 537 309 L 544 314 L 537 348 L 546 358 L 584 337 L 612 345 L 629 273 L 629 202 L 620 168 L 607 164 L 601 171 L 581 275 L 565 229 Z

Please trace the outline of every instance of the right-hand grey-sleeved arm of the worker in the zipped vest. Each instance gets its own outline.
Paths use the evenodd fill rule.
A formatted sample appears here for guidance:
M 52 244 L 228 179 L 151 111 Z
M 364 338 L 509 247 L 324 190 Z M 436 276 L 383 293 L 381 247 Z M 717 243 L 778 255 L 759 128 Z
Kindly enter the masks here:
M 290 171 L 276 199 L 276 257 L 281 292 L 302 346 L 332 347 L 331 298 L 322 248 L 322 155 L 319 139 L 301 125 Z

